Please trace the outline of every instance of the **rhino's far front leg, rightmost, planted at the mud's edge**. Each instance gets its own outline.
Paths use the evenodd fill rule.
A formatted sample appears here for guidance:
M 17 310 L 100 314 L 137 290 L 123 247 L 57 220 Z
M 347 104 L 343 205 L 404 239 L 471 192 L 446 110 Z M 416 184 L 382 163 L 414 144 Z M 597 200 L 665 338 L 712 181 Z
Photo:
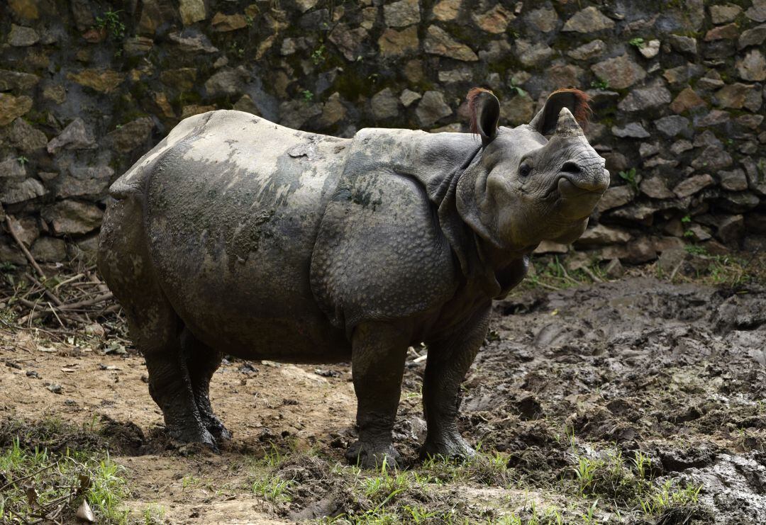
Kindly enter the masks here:
M 486 337 L 489 309 L 486 305 L 449 337 L 428 342 L 423 380 L 423 409 L 428 432 L 421 455 L 470 458 L 476 451 L 457 430 L 460 383 Z

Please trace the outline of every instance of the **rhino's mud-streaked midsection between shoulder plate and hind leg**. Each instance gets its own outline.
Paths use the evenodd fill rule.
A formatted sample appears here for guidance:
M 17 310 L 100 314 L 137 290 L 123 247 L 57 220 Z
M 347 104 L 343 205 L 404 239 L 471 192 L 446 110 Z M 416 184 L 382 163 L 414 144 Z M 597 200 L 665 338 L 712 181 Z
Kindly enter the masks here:
M 224 353 L 347 358 L 345 334 L 309 284 L 347 141 L 218 113 L 165 153 L 146 187 L 149 251 L 165 295 L 192 333 Z

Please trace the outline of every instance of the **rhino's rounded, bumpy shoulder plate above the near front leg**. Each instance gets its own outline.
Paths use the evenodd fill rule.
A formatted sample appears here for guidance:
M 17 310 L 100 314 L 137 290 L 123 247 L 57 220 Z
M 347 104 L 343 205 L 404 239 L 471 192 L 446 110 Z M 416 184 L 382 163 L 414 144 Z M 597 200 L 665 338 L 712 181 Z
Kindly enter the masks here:
M 341 184 L 322 217 L 311 285 L 330 321 L 347 331 L 452 297 L 456 266 L 424 188 L 385 170 Z

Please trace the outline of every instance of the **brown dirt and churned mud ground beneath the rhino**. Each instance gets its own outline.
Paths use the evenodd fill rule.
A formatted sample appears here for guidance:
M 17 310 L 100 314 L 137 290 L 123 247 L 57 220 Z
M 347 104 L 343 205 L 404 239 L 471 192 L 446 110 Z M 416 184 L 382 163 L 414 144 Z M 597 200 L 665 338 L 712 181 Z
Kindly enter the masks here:
M 394 439 L 411 475 L 430 478 L 390 491 L 375 512 L 398 501 L 411 518 L 392 520 L 405 523 L 548 523 L 532 521 L 544 508 L 563 523 L 766 523 L 764 306 L 758 285 L 653 277 L 515 292 L 496 304 L 460 419 L 502 468 L 450 477 L 418 459 L 425 361 L 416 349 Z M 360 489 L 370 480 L 340 466 L 355 435 L 348 366 L 224 361 L 211 399 L 234 439 L 214 454 L 165 438 L 146 367 L 129 348 L 104 354 L 113 341 L 56 339 L 0 331 L 0 426 L 55 418 L 97 429 L 124 467 L 131 520 L 149 523 L 156 509 L 160 523 L 365 521 L 359 494 L 371 497 Z M 603 467 L 617 456 L 648 458 L 642 475 L 654 487 L 697 488 L 699 501 L 651 514 L 614 484 L 582 482 L 583 461 Z M 278 474 L 271 481 L 289 482 L 283 494 L 254 483 L 266 467 Z

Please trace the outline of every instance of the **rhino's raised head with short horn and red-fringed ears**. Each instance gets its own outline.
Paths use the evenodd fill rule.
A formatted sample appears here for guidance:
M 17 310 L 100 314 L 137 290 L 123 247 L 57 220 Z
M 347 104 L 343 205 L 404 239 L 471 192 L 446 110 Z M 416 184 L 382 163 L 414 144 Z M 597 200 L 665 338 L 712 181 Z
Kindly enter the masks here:
M 581 128 L 588 96 L 552 93 L 529 124 L 516 128 L 497 126 L 500 105 L 493 93 L 474 88 L 468 100 L 482 148 L 457 187 L 463 220 L 502 253 L 581 236 L 610 181 L 604 158 Z

